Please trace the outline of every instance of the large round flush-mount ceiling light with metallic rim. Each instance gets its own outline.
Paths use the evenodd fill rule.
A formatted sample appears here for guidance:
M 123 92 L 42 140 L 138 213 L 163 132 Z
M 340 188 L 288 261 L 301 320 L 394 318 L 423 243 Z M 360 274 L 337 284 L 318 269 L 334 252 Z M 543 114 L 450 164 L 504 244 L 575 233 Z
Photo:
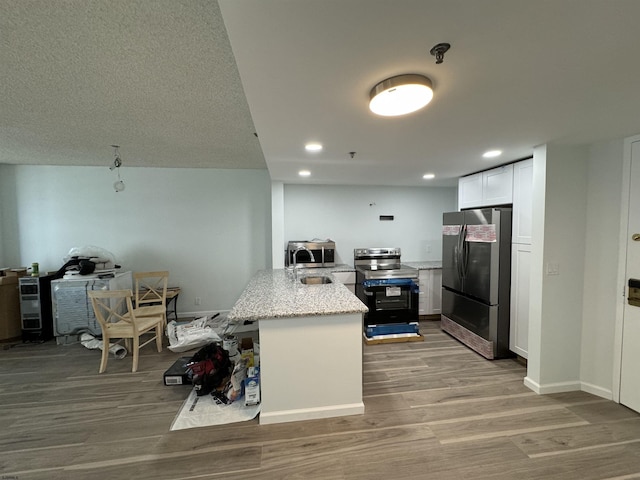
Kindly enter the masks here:
M 369 109 L 383 117 L 395 117 L 425 107 L 433 98 L 431 79 L 409 73 L 387 78 L 369 93 Z

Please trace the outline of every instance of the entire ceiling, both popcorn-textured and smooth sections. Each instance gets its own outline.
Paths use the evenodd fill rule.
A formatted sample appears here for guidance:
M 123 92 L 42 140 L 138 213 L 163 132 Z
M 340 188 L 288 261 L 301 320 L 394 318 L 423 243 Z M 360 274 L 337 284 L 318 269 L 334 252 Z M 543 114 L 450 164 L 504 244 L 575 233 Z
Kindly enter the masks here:
M 539 144 L 640 133 L 637 0 L 219 4 L 0 2 L 0 163 L 106 165 L 116 143 L 124 166 L 441 186 Z M 432 103 L 370 113 L 370 89 L 402 73 L 430 77 Z

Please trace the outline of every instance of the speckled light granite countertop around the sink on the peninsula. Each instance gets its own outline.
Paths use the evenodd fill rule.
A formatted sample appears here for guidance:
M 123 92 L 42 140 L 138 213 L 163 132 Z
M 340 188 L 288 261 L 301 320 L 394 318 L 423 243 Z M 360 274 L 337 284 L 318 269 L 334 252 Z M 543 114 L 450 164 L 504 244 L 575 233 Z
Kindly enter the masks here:
M 246 322 L 368 311 L 366 305 L 329 272 L 337 271 L 335 268 L 326 269 L 329 270 L 326 272 L 319 270 L 325 269 L 302 269 L 298 278 L 322 274 L 330 277 L 333 283 L 305 285 L 296 281 L 290 270 L 260 270 L 229 312 L 229 320 Z

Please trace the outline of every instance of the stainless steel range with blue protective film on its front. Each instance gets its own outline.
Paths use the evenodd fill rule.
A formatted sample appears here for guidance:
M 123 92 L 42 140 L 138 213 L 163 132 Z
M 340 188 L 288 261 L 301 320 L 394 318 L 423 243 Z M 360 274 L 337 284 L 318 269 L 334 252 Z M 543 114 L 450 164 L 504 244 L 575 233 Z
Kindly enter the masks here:
M 417 328 L 418 270 L 403 265 L 399 248 L 356 248 L 356 295 L 369 307 L 365 331 L 407 333 Z M 413 326 L 409 326 L 413 323 Z M 384 327 L 382 327 L 384 326 Z

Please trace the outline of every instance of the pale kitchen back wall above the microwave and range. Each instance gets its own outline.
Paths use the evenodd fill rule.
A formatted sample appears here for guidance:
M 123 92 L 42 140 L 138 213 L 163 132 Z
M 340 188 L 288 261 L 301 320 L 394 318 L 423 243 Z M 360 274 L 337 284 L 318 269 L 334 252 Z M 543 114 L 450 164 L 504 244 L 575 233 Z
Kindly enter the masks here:
M 337 261 L 350 265 L 358 247 L 400 247 L 405 262 L 441 260 L 442 213 L 456 209 L 455 187 L 285 185 L 281 250 L 289 240 L 331 238 Z

